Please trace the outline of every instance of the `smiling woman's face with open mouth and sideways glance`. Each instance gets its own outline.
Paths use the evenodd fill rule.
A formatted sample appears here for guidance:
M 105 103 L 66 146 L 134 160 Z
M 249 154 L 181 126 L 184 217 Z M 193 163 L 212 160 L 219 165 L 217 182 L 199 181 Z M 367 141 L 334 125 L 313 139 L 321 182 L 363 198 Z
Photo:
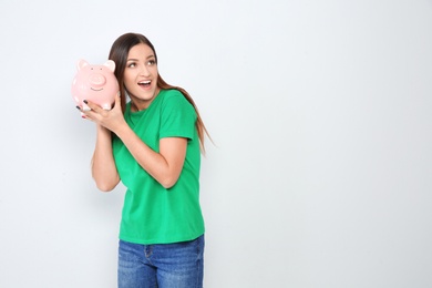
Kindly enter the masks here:
M 152 103 L 160 92 L 157 76 L 157 64 L 153 50 L 146 44 L 131 48 L 123 80 L 134 109 L 143 110 Z

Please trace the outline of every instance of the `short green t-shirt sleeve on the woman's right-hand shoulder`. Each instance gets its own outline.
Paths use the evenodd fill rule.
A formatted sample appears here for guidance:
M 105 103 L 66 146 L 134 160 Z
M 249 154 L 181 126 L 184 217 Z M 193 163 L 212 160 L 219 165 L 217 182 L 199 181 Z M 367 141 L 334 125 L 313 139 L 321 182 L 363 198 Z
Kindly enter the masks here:
M 195 135 L 196 112 L 194 106 L 177 90 L 169 91 L 161 111 L 160 138 Z

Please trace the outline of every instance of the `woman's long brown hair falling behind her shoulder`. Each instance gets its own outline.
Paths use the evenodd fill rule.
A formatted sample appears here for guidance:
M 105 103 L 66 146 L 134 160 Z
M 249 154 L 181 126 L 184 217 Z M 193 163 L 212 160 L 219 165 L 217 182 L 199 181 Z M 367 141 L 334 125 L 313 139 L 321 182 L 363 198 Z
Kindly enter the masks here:
M 109 59 L 113 60 L 115 62 L 114 74 L 119 81 L 120 92 L 122 95 L 121 103 L 122 103 L 123 112 L 125 111 L 125 107 L 126 107 L 126 97 L 125 97 L 126 91 L 125 91 L 124 79 L 123 79 L 124 70 L 126 68 L 128 51 L 131 50 L 131 48 L 133 48 L 134 45 L 137 45 L 137 44 L 148 45 L 154 53 L 156 64 L 157 64 L 156 50 L 154 49 L 152 42 L 150 42 L 150 40 L 146 37 L 142 35 L 142 34 L 137 34 L 137 33 L 125 33 L 125 34 L 119 37 L 117 40 L 115 40 L 113 45 L 111 47 L 111 51 L 110 51 L 110 55 L 109 55 Z M 205 153 L 204 138 L 205 138 L 205 135 L 207 135 L 208 138 L 210 138 L 210 136 L 209 136 L 209 134 L 204 125 L 204 122 L 199 115 L 198 107 L 196 106 L 196 104 L 195 104 L 194 100 L 192 99 L 192 96 L 189 95 L 189 93 L 187 93 L 186 90 L 184 90 L 183 88 L 169 85 L 168 83 L 166 83 L 162 79 L 161 74 L 158 74 L 158 76 L 157 76 L 157 86 L 160 89 L 163 89 L 163 90 L 167 90 L 167 89 L 178 90 L 186 97 L 186 100 L 194 106 L 196 115 L 197 115 L 196 130 L 198 132 L 199 145 L 200 145 L 202 152 Z

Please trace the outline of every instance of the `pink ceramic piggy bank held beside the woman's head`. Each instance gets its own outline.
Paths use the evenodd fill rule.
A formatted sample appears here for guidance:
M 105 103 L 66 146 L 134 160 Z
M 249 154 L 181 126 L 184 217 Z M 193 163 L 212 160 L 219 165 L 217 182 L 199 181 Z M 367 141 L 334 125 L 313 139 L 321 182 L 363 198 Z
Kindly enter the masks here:
M 103 65 L 91 65 L 85 60 L 76 63 L 78 72 L 72 82 L 72 96 L 76 105 L 84 111 L 90 107 L 83 102 L 89 100 L 104 110 L 111 110 L 115 96 L 120 93 L 114 75 L 115 63 L 112 60 Z

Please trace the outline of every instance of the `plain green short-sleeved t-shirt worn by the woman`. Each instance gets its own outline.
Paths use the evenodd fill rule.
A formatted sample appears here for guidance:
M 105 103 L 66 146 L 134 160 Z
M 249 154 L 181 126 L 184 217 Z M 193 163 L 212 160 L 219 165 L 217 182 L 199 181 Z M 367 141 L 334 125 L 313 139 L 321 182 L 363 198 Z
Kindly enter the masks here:
M 127 187 L 120 239 L 136 244 L 168 244 L 192 240 L 204 234 L 199 206 L 200 151 L 196 112 L 177 90 L 161 90 L 151 105 L 124 117 L 141 140 L 155 152 L 164 137 L 187 138 L 186 158 L 177 183 L 164 188 L 114 136 L 113 154 L 120 178 Z

